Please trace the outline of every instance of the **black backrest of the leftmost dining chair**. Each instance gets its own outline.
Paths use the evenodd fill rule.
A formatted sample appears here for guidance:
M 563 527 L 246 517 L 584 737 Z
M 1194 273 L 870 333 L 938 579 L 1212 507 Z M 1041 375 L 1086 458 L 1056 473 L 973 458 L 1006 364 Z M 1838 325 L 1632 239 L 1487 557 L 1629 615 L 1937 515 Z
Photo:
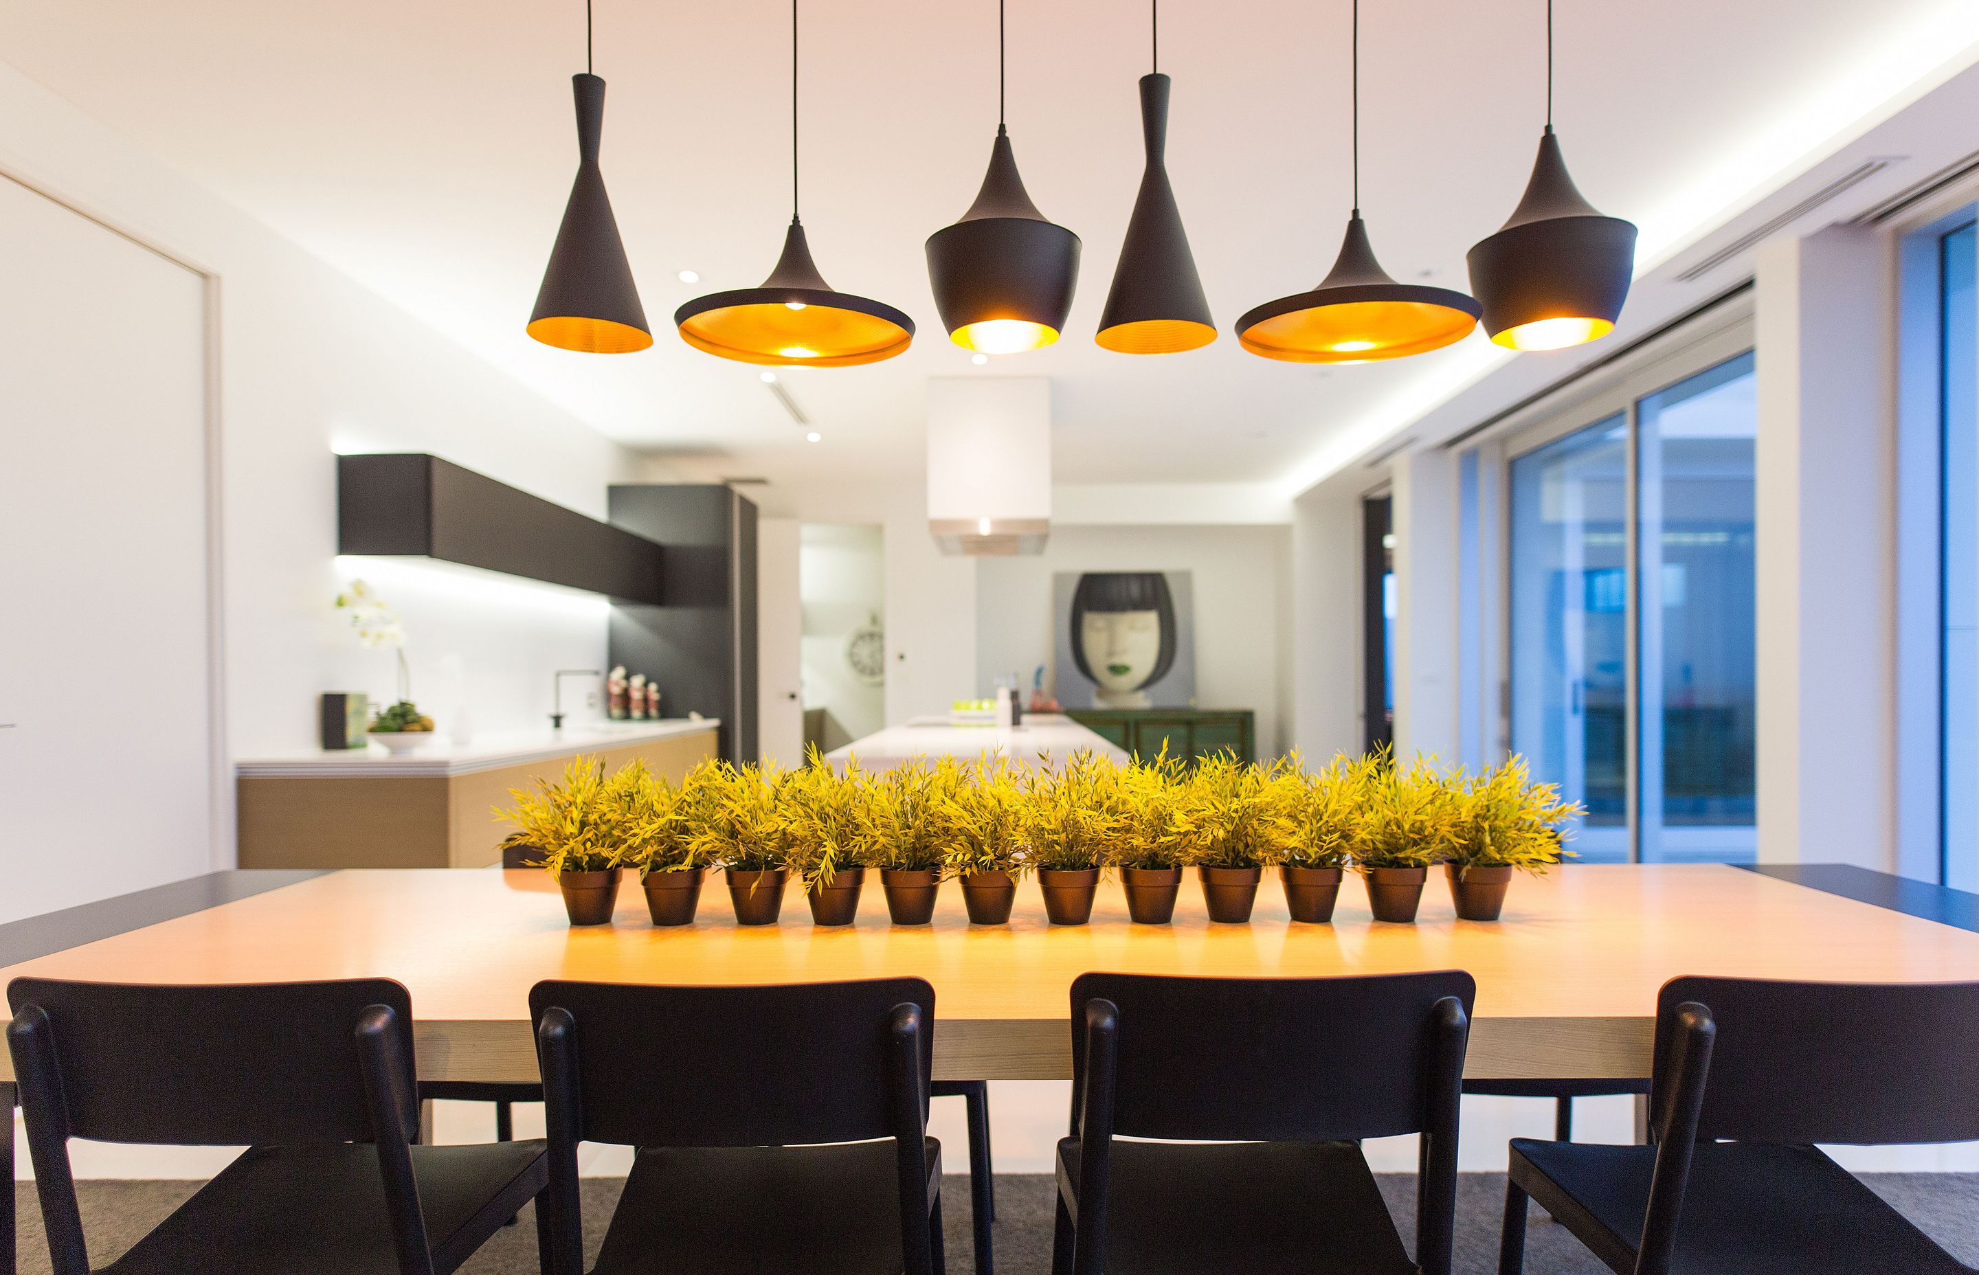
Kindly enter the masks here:
M 412 998 L 388 978 L 166 986 L 16 978 L 10 1043 L 53 1061 L 67 1134 L 237 1146 L 368 1142 L 358 1061 L 364 1010 L 392 1010 L 404 1121 L 418 1127 Z

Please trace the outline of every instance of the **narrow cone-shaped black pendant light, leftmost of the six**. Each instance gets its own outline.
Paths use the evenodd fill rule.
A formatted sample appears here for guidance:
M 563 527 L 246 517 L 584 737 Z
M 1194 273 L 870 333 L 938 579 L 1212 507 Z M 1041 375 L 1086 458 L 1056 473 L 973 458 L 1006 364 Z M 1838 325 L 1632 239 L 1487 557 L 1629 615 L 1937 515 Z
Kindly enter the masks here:
M 584 75 L 578 97 L 578 180 L 564 204 L 550 265 L 542 271 L 528 335 L 542 344 L 584 354 L 629 354 L 653 344 L 645 307 L 617 238 L 606 176 L 598 170 L 598 135 L 606 119 L 606 81 L 592 75 L 592 4 L 584 0 Z

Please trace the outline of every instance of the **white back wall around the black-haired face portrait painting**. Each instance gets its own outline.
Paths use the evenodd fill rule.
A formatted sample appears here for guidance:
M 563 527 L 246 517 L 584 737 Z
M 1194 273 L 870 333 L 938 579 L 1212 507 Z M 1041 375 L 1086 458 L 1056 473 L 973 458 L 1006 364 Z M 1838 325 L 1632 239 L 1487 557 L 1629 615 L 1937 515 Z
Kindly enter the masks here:
M 1081 570 L 1187 570 L 1195 590 L 1195 701 L 1253 709 L 1257 748 L 1286 744 L 1292 540 L 1284 527 L 1053 527 L 1043 554 L 976 568 L 976 691 L 1015 671 L 1055 685 L 1051 576 Z

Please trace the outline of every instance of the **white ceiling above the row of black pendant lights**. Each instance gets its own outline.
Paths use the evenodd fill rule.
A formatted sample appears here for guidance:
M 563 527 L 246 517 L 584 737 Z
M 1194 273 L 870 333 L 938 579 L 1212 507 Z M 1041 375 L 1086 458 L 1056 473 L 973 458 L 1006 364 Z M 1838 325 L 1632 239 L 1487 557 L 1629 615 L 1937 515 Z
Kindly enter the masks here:
M 1696 190 L 1920 53 L 1963 0 L 1561 0 L 1555 117 L 1581 190 L 1670 247 Z M 1399 279 L 1464 287 L 1542 123 L 1544 0 L 1389 0 L 1362 14 L 1362 204 Z M 0 53 L 598 430 L 776 481 L 920 467 L 928 376 L 1045 374 L 1057 477 L 1271 481 L 1397 398 L 1478 366 L 1459 346 L 1312 368 L 1237 348 L 1251 305 L 1310 287 L 1348 208 L 1348 0 L 1170 0 L 1174 176 L 1225 337 L 1166 358 L 1092 344 L 1140 176 L 1142 0 L 1011 0 L 1009 129 L 1039 208 L 1084 240 L 1065 341 L 988 368 L 952 346 L 922 240 L 974 198 L 995 131 L 990 0 L 803 10 L 803 220 L 825 277 L 906 309 L 902 358 L 798 370 L 809 445 L 758 368 L 687 348 L 671 311 L 754 285 L 788 220 L 784 0 L 598 0 L 604 168 L 653 321 L 649 352 L 534 344 L 534 301 L 574 168 L 580 0 L 0 0 Z M 1949 55 L 1957 46 L 1935 49 Z M 1846 121 L 1835 121 L 1835 127 Z M 1759 178 L 1753 172 L 1751 178 Z M 1742 192 L 1749 194 L 1749 192 Z M 1688 200 L 1688 202 L 1686 202 Z M 677 271 L 697 269 L 699 285 Z M 1470 343 L 1482 343 L 1474 335 Z M 1532 356 L 1528 356 L 1532 358 Z

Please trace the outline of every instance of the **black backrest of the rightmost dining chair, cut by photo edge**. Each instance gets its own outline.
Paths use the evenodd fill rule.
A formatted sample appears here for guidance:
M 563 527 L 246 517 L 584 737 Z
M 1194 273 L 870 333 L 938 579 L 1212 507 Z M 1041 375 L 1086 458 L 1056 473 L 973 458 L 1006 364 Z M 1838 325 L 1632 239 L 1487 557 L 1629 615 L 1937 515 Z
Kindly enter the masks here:
M 1979 1138 L 1979 982 L 1672 978 L 1656 998 L 1658 1107 L 1684 1002 L 1718 1030 L 1698 1140 Z

